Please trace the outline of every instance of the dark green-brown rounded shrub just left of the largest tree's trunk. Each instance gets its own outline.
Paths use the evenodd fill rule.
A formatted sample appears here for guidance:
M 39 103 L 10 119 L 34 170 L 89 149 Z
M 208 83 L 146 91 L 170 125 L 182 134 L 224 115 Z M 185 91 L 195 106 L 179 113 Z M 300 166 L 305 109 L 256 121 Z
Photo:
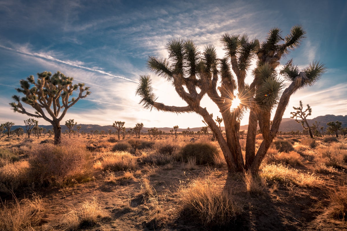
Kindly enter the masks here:
M 189 158 L 196 158 L 198 165 L 214 164 L 214 159 L 218 155 L 217 147 L 210 141 L 198 141 L 186 144 L 180 152 L 183 161 L 187 162 Z

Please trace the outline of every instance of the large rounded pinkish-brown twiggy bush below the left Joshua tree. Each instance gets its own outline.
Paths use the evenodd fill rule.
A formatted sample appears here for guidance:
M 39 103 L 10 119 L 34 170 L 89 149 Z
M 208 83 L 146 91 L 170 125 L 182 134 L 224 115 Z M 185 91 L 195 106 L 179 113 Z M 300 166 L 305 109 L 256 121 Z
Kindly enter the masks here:
M 29 155 L 29 175 L 39 184 L 66 185 L 90 179 L 91 154 L 77 140 L 37 144 Z

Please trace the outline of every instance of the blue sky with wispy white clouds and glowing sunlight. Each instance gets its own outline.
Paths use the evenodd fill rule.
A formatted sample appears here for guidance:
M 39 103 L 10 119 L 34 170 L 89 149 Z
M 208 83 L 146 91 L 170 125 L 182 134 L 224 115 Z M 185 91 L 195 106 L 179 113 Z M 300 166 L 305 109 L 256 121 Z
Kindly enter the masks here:
M 314 86 L 290 98 L 283 118 L 291 116 L 299 100 L 312 107 L 310 118 L 346 115 L 346 15 L 345 0 L 0 0 L 0 123 L 24 125 L 29 118 L 9 106 L 11 96 L 18 95 L 15 88 L 21 79 L 60 71 L 74 77 L 74 83 L 85 83 L 92 92 L 68 110 L 61 124 L 74 119 L 78 124 L 99 125 L 124 121 L 125 127 L 136 123 L 145 127 L 204 126 L 195 113 L 150 111 L 138 104 L 139 75 L 149 74 L 158 102 L 186 106 L 169 82 L 147 69 L 147 57 L 168 57 L 165 45 L 170 39 L 189 38 L 200 50 L 214 45 L 221 58 L 225 53 L 219 39 L 224 33 L 246 33 L 261 42 L 271 28 L 279 27 L 285 36 L 297 24 L 306 30 L 306 38 L 281 65 L 293 58 L 305 68 L 317 60 L 328 69 Z M 250 83 L 251 76 L 246 81 Z M 213 118 L 220 117 L 207 96 L 201 106 Z M 49 125 L 38 120 L 40 125 Z M 245 124 L 247 114 L 241 121 Z

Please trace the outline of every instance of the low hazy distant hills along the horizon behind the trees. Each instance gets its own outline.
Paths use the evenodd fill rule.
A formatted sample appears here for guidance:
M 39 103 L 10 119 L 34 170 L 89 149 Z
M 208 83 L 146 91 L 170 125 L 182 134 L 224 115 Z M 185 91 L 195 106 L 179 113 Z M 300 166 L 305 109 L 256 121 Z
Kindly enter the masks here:
M 310 124 L 310 126 L 312 126 L 312 124 L 315 121 L 317 121 L 317 123 L 320 123 L 319 126 L 320 127 L 323 126 L 325 129 L 328 127 L 327 123 L 330 121 L 340 121 L 340 122 L 342 122 L 342 127 L 347 127 L 347 115 L 345 115 L 345 116 L 342 116 L 342 115 L 318 116 L 318 117 L 315 117 L 313 119 L 307 119 L 307 121 L 308 121 L 308 124 Z M 105 126 L 101 126 L 101 125 L 97 125 L 97 124 L 78 124 L 78 125 L 81 125 L 82 126 L 81 131 L 84 131 L 86 133 L 90 133 L 91 130 L 93 130 L 93 131 L 98 130 L 99 132 L 105 131 L 105 133 L 108 133 L 109 129 L 111 129 L 112 132 L 116 131 L 116 129 L 114 127 L 112 127 L 112 125 L 105 125 Z M 46 128 L 47 131 L 49 129 L 52 129 L 52 125 L 39 125 L 39 126 Z M 74 130 L 76 130 L 76 126 L 74 127 Z M 15 130 L 18 127 L 22 127 L 24 129 L 24 131 L 26 131 L 24 125 L 14 125 L 14 126 L 12 126 L 11 130 Z M 144 127 L 144 128 L 142 128 L 141 132 L 145 133 L 145 132 L 147 132 L 147 130 L 149 130 L 151 128 L 152 127 Z M 200 131 L 201 128 L 202 127 L 193 127 L 193 128 L 190 128 L 190 130 L 197 132 L 197 131 Z M 248 125 L 240 126 L 240 130 L 247 130 L 247 128 L 248 128 Z M 126 131 L 128 131 L 129 129 L 130 129 L 129 127 L 126 128 Z M 163 132 L 170 132 L 170 130 L 172 130 L 172 129 L 174 129 L 174 128 L 172 128 L 172 127 L 158 127 L 158 130 L 161 130 Z M 225 127 L 221 127 L 221 129 L 223 131 L 225 131 Z M 258 127 L 258 129 L 259 129 L 259 127 Z M 67 127 L 65 125 L 61 125 L 61 131 L 64 132 L 65 130 L 67 130 Z M 178 132 L 182 132 L 185 130 L 187 130 L 187 128 L 178 128 L 177 129 Z M 297 131 L 297 130 L 299 130 L 299 131 L 303 130 L 301 123 L 297 123 L 295 121 L 295 119 L 292 119 L 292 118 L 283 118 L 282 119 L 279 131 L 290 132 L 290 131 Z

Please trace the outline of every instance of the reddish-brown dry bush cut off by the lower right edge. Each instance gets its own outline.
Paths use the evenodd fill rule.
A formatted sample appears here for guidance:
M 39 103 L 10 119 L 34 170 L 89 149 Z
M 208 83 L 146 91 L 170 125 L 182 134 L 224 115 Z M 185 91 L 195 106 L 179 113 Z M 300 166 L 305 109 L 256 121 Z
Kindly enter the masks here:
M 331 204 L 329 214 L 333 219 L 347 221 L 347 186 L 334 189 L 329 195 Z

